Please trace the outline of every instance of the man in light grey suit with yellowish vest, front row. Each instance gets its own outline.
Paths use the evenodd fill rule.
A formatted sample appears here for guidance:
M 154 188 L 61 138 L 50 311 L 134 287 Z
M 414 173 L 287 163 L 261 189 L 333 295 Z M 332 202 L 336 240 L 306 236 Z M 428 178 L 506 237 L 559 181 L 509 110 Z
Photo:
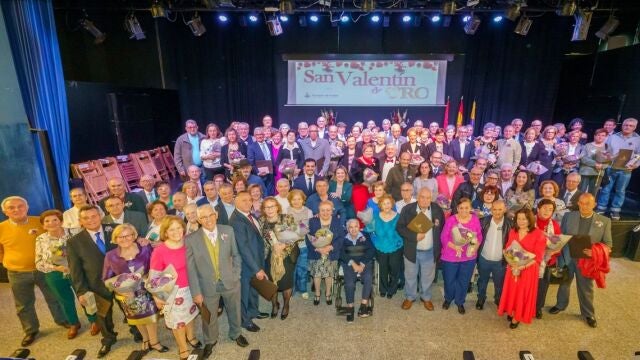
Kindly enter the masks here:
M 240 272 L 242 258 L 233 228 L 216 225 L 218 213 L 210 204 L 198 207 L 198 222 L 202 227 L 185 239 L 189 289 L 193 301 L 208 309 L 217 309 L 224 300 L 229 322 L 229 338 L 241 347 L 249 345 L 240 327 Z M 218 316 L 212 314 L 209 323 L 202 321 L 204 358 L 213 352 L 218 342 Z

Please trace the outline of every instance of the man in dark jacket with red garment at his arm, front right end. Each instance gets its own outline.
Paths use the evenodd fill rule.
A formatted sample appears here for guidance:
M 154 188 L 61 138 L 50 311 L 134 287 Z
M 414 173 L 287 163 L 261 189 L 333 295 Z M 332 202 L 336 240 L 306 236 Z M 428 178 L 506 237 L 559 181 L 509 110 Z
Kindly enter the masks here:
M 580 195 L 578 199 L 578 211 L 571 211 L 562 217 L 560 228 L 563 234 L 567 235 L 589 235 L 591 244 L 602 243 L 605 251 L 611 253 L 611 220 L 608 217 L 597 214 L 593 211 L 596 207 L 596 200 L 590 193 Z M 584 254 L 587 257 L 592 256 L 591 249 L 585 249 Z M 558 258 L 558 265 L 566 265 L 569 268 L 570 281 L 560 285 L 558 288 L 556 305 L 549 309 L 549 313 L 557 314 L 564 311 L 569 305 L 569 290 L 573 277 L 576 278 L 578 288 L 578 301 L 580 302 L 580 314 L 587 321 L 587 324 L 593 328 L 598 326 L 595 318 L 595 309 L 593 307 L 593 279 L 582 275 L 578 269 L 578 260 L 571 257 L 569 246 L 562 249 L 562 256 Z

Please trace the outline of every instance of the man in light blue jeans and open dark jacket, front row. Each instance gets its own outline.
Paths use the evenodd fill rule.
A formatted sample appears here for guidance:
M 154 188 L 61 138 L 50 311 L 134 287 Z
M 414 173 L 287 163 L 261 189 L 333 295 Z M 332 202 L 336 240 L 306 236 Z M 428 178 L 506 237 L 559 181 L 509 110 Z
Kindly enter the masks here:
M 402 208 L 396 224 L 396 230 L 404 240 L 404 310 L 409 310 L 418 299 L 420 280 L 420 300 L 425 309 L 433 311 L 431 285 L 440 259 L 440 233 L 444 226 L 444 212 L 431 200 L 431 190 L 426 187 L 420 189 L 417 201 Z M 421 212 L 431 220 L 433 227 L 426 233 L 415 233 L 407 225 Z

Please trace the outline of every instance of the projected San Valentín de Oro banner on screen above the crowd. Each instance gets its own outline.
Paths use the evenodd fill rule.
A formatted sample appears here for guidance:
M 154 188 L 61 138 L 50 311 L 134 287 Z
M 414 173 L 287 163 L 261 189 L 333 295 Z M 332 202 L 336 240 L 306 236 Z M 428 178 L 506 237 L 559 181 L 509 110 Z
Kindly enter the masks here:
M 289 60 L 287 105 L 443 105 L 446 75 L 446 60 Z

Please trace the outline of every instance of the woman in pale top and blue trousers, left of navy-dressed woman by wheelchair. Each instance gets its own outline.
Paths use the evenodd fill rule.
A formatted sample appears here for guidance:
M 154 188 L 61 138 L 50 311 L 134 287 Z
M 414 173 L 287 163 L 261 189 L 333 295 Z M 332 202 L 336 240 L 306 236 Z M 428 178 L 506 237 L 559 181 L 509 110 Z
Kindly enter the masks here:
M 311 210 L 304 206 L 307 200 L 306 195 L 302 190 L 293 189 L 289 191 L 287 195 L 289 200 L 289 208 L 287 214 L 293 216 L 293 219 L 297 224 L 304 224 L 309 228 L 309 220 L 313 217 Z M 296 291 L 302 294 L 302 298 L 307 300 L 309 293 L 307 292 L 307 280 L 309 278 L 309 264 L 307 261 L 307 244 L 304 241 L 298 243 L 300 249 L 298 255 L 298 261 L 296 262 L 295 282 Z

